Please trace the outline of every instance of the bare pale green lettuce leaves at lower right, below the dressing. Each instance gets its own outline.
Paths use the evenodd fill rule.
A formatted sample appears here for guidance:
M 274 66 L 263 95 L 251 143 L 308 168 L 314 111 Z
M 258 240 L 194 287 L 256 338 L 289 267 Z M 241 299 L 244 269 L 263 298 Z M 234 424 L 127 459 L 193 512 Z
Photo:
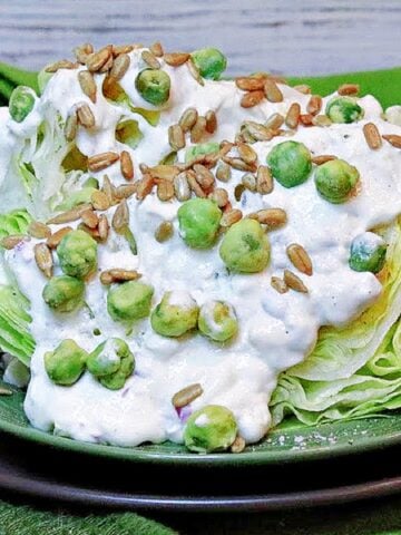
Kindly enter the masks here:
M 281 376 L 271 400 L 275 425 L 290 414 L 314 425 L 401 408 L 400 222 L 383 234 L 389 247 L 380 298 L 350 325 L 322 328 L 305 362 Z

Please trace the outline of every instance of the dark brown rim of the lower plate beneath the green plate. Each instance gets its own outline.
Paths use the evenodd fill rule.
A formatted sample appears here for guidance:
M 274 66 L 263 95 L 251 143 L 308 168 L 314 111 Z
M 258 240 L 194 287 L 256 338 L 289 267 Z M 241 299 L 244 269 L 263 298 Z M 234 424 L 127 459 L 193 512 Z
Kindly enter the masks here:
M 258 493 L 244 496 L 198 496 L 157 495 L 107 492 L 101 489 L 78 487 L 58 481 L 30 479 L 20 475 L 1 475 L 0 489 L 19 495 L 28 495 L 36 499 L 56 499 L 71 505 L 107 507 L 110 509 L 131 509 L 144 512 L 177 513 L 251 513 L 273 512 L 306 507 L 324 507 L 356 500 L 385 497 L 401 493 L 401 476 L 373 479 L 356 484 L 323 487 L 319 489 L 301 489 L 288 493 Z

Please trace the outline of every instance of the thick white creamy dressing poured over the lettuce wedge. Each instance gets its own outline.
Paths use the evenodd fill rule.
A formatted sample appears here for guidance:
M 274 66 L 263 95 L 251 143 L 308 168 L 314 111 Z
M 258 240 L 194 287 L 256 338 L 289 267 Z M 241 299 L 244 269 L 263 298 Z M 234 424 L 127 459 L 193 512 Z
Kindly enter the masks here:
M 121 86 L 135 106 L 150 109 L 134 84 L 137 72 L 145 67 L 140 50 L 130 57 L 130 68 Z M 245 109 L 239 106 L 243 91 L 234 82 L 205 80 L 205 86 L 200 86 L 186 66 L 163 68 L 172 79 L 172 97 L 157 127 L 106 101 L 100 91 L 101 76 L 97 77 L 97 104 L 90 103 L 79 88 L 77 70 L 58 71 L 47 86 L 40 106 L 43 110 L 57 109 L 65 119 L 72 106 L 86 101 L 94 110 L 97 126 L 90 133 L 84 128 L 79 130 L 79 149 L 88 156 L 106 150 L 129 150 L 139 177 L 139 163 L 156 164 L 170 152 L 168 126 L 189 106 L 196 107 L 199 114 L 208 109 L 216 111 L 218 128 L 209 140 L 222 140 L 233 139 L 245 119 L 262 123 L 273 113 L 285 115 L 293 101 L 299 101 L 304 113 L 310 98 L 280 86 L 285 97 L 283 103 L 264 100 Z M 124 240 L 115 234 L 107 244 L 99 245 L 98 270 L 137 269 L 143 273 L 141 280 L 155 289 L 154 305 L 164 292 L 173 290 L 189 292 L 199 305 L 209 300 L 231 303 L 238 318 L 239 332 L 229 343 L 215 343 L 197 332 L 180 339 L 164 338 L 151 330 L 148 319 L 136 323 L 134 332 L 126 335 L 125 329 L 107 313 L 107 289 L 98 278 L 86 289 L 91 314 L 88 308 L 71 314 L 53 313 L 41 298 L 46 279 L 35 263 L 36 240 L 8 252 L 7 261 L 22 293 L 31 301 L 32 334 L 37 340 L 31 361 L 32 379 L 25 402 L 31 424 L 80 440 L 121 446 L 166 439 L 182 441 L 184 418 L 180 419 L 170 399 L 182 388 L 199 382 L 204 393 L 192 402 L 190 410 L 209 403 L 226 406 L 234 412 L 239 434 L 247 442 L 261 439 L 271 424 L 268 401 L 280 372 L 305 359 L 321 325 L 349 322 L 381 292 L 381 284 L 373 274 L 358 273 L 349 268 L 350 244 L 356 235 L 390 223 L 401 213 L 401 153 L 385 142 L 379 150 L 370 149 L 362 126 L 373 120 L 382 134 L 401 134 L 401 128 L 381 118 L 382 109 L 373 97 L 359 101 L 364 109 L 363 120 L 330 128 L 300 127 L 291 137 L 304 143 L 312 155 L 333 154 L 359 169 L 361 191 L 348 203 L 333 205 L 322 200 L 313 176 L 292 189 L 275 182 L 270 195 L 245 191 L 241 203 L 234 200 L 233 192 L 243 173 L 233 171 L 227 184 L 218 184 L 229 193 L 233 207 L 239 207 L 244 215 L 264 207 L 286 211 L 288 223 L 268 233 L 271 261 L 264 272 L 227 274 L 217 245 L 206 251 L 189 249 L 178 233 L 179 203 L 162 203 L 155 194 L 143 202 L 134 197 L 128 202 L 138 256 L 134 256 Z M 135 117 L 144 133 L 135 150 L 116 142 L 115 128 L 121 116 Z M 274 145 L 285 139 L 276 137 L 268 143 L 254 144 L 260 164 L 265 163 Z M 184 159 L 184 150 L 179 159 Z M 106 172 L 115 184 L 124 183 L 118 163 Z M 98 174 L 100 183 L 104 174 Z M 110 208 L 109 216 L 114 210 Z M 169 241 L 158 243 L 154 233 L 166 220 L 174 223 L 175 233 Z M 272 275 L 282 276 L 284 269 L 296 271 L 285 253 L 290 243 L 302 244 L 312 259 L 313 275 L 300 274 L 309 288 L 307 294 L 295 291 L 278 294 L 271 286 Z M 56 274 L 59 273 L 57 266 Z M 178 301 L 186 302 L 184 293 L 180 295 Z M 101 335 L 94 335 L 96 328 Z M 136 359 L 135 373 L 121 390 L 104 388 L 89 372 L 71 387 L 59 387 L 49 380 L 43 354 L 61 340 L 71 338 L 91 351 L 110 337 L 127 340 Z

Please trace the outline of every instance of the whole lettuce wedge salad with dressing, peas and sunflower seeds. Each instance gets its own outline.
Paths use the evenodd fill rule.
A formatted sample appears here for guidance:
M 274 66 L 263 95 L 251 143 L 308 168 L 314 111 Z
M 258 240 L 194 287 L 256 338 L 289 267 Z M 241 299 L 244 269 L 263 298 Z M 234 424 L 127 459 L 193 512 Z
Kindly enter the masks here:
M 75 56 L 0 108 L 0 348 L 31 425 L 239 453 L 400 408 L 401 108 L 224 79 L 214 48 Z

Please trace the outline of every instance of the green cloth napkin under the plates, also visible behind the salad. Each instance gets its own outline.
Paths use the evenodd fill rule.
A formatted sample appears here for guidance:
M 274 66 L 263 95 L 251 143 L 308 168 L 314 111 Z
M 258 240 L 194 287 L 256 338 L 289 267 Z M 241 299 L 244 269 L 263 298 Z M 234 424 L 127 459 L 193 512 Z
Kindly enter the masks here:
M 401 68 L 312 78 L 290 78 L 309 84 L 314 94 L 327 95 L 345 81 L 358 82 L 361 94 L 372 94 L 383 108 L 401 104 Z M 18 85 L 38 91 L 37 74 L 0 62 L 0 106 Z M 401 498 L 348 507 L 253 515 L 164 516 L 163 522 L 183 535 L 401 535 Z M 172 535 L 174 529 L 134 513 L 80 516 L 12 505 L 0 500 L 0 535 Z

